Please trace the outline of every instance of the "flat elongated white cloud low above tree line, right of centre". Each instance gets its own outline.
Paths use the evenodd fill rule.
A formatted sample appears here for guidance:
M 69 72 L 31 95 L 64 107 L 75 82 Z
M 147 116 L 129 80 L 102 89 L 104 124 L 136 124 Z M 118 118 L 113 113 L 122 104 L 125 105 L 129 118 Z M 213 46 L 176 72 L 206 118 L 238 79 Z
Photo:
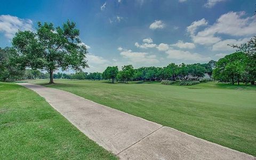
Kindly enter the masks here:
M 165 53 L 167 54 L 167 58 L 169 59 L 188 60 L 188 61 L 195 61 L 195 62 L 211 60 L 210 57 L 205 57 L 198 53 L 190 53 L 189 51 L 170 49 Z

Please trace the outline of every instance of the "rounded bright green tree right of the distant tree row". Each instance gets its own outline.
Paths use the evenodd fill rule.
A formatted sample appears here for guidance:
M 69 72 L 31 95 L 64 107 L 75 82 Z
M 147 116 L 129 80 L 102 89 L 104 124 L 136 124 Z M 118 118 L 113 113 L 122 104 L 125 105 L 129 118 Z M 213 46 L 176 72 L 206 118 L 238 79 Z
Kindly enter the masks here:
M 227 81 L 238 85 L 246 70 L 247 57 L 243 52 L 236 52 L 226 55 L 216 63 L 213 70 L 213 77 L 219 81 Z

